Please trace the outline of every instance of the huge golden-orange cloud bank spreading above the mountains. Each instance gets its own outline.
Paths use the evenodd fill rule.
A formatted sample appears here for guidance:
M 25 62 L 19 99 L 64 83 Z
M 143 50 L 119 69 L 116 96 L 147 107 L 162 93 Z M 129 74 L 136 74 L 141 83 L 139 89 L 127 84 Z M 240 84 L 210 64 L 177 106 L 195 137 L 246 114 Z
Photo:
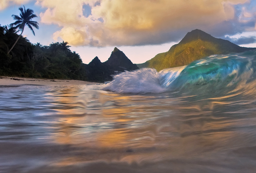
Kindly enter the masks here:
M 61 38 L 70 45 L 91 46 L 161 44 L 177 41 L 196 28 L 212 33 L 220 31 L 223 35 L 253 30 L 256 13 L 249 8 L 250 3 L 250 0 L 37 0 L 38 5 L 47 8 L 40 14 L 41 22 L 62 27 L 54 34 L 55 39 Z M 85 6 L 91 9 L 85 12 Z

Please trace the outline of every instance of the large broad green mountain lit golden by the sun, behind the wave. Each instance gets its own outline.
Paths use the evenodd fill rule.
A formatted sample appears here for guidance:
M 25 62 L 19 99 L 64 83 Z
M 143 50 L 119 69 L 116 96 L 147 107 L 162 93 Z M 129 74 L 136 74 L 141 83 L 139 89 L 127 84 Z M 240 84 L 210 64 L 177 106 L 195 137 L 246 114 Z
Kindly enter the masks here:
M 190 64 L 194 60 L 201 59 L 212 54 L 239 53 L 255 48 L 240 47 L 228 40 L 217 39 L 202 30 L 195 29 L 168 52 L 159 53 L 154 58 L 142 64 L 139 68 L 155 68 L 160 71 L 170 67 L 178 67 Z

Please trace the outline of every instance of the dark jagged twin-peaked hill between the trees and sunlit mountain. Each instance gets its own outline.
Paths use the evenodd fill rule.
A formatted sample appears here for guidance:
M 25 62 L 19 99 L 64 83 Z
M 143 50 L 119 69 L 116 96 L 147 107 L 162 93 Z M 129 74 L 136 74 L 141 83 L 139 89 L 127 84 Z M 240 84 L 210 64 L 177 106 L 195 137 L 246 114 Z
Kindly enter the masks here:
M 114 48 L 106 62 L 101 62 L 95 57 L 89 64 L 82 64 L 86 71 L 87 80 L 95 82 L 111 81 L 112 75 L 121 73 L 125 70 L 132 71 L 139 69 L 127 56 L 118 48 Z

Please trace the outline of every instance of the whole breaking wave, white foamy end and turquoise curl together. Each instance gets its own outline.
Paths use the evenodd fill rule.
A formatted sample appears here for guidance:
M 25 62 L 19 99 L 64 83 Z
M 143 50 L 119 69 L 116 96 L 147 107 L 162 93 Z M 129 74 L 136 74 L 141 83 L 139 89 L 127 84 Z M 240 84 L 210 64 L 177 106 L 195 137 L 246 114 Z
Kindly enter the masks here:
M 161 93 L 234 87 L 241 81 L 256 79 L 256 52 L 213 55 L 159 73 L 155 69 L 143 68 L 126 71 L 113 78 L 104 90 L 118 93 Z

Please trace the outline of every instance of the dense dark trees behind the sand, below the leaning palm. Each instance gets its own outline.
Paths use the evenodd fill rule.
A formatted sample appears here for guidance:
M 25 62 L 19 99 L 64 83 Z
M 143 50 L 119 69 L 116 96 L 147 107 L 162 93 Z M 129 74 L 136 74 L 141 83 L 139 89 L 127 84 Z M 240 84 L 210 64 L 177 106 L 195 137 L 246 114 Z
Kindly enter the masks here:
M 15 32 L 15 28 L 0 25 L 0 75 L 86 80 L 86 76 L 81 75 L 82 60 L 79 54 L 69 50 L 67 42 L 49 46 L 31 44 Z

